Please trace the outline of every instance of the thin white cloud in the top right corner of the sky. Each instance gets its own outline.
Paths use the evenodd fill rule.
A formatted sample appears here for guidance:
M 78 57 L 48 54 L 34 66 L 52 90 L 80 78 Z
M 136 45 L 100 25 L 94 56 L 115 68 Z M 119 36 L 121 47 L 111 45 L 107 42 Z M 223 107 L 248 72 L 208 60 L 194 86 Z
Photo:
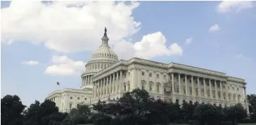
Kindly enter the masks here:
M 217 11 L 219 13 L 239 12 L 252 7 L 253 1 L 222 1 L 217 6 Z

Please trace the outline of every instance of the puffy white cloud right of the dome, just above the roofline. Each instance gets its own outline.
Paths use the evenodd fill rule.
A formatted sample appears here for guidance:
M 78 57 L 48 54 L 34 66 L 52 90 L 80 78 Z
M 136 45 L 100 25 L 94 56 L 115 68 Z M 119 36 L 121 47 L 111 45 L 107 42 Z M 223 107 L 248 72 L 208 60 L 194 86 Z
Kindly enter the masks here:
M 182 55 L 183 50 L 177 44 L 166 45 L 165 36 L 161 32 L 146 34 L 141 41 L 132 44 L 129 41 L 118 43 L 113 50 L 120 58 L 129 59 L 132 57 L 151 59 L 162 55 Z

